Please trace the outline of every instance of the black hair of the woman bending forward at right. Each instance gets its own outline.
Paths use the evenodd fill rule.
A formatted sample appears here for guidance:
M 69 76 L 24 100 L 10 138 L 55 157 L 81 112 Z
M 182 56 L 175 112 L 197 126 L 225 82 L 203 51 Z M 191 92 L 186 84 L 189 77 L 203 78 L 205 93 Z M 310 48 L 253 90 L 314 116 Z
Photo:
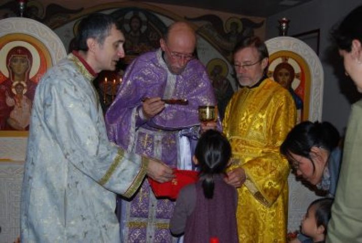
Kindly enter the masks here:
M 286 135 L 284 142 L 280 145 L 280 152 L 286 157 L 291 157 L 291 153 L 294 153 L 309 158 L 314 171 L 314 162 L 309 155 L 311 148 L 322 147 L 331 152 L 338 146 L 339 139 L 339 132 L 328 121 L 322 123 L 303 121 Z

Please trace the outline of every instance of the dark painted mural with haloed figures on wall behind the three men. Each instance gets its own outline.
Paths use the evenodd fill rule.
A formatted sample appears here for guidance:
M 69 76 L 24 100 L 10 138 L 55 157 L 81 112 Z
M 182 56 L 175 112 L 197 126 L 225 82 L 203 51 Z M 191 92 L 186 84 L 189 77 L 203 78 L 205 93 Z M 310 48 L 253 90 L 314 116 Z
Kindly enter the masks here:
M 126 66 L 138 55 L 159 47 L 159 39 L 167 26 L 183 17 L 157 7 L 137 3 L 103 4 L 89 9 L 67 9 L 57 4 L 44 7 L 36 0 L 27 2 L 25 16 L 45 23 L 61 36 L 64 45 L 71 50 L 74 29 L 81 17 L 91 12 L 106 12 L 118 20 L 126 36 L 126 58 L 119 63 L 116 72 L 102 72 L 95 80 L 95 86 L 102 97 L 103 110 L 112 103 Z M 134 7 L 141 6 L 141 7 Z M 147 6 L 147 7 L 146 7 Z M 16 1 L 0 6 L 0 18 L 16 14 Z M 202 13 L 202 11 L 200 11 Z M 262 28 L 264 21 L 254 22 L 248 18 L 231 16 L 225 21 L 213 14 L 184 17 L 194 24 L 198 34 L 197 56 L 206 66 L 220 115 L 223 118 L 225 107 L 238 85 L 233 73 L 232 50 L 243 36 L 254 34 Z

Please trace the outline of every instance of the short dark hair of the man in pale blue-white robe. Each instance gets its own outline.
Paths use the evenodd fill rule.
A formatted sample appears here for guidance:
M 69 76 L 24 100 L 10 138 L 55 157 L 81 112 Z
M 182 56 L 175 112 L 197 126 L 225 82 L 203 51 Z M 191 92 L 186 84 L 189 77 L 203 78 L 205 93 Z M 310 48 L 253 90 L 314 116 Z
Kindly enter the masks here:
M 105 37 L 110 35 L 113 25 L 120 30 L 116 20 L 111 15 L 102 13 L 88 15 L 82 19 L 78 25 L 74 49 L 88 51 L 88 38 L 95 38 L 97 42 L 102 45 Z

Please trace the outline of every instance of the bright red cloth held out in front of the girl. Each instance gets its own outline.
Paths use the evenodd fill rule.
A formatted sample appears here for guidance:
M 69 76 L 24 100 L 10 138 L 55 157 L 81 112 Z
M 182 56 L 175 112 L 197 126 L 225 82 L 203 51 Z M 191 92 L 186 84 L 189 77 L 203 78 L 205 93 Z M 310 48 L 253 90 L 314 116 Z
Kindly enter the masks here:
M 195 183 L 199 179 L 197 171 L 173 170 L 175 176 L 171 181 L 159 183 L 152 178 L 148 178 L 152 191 L 156 197 L 169 197 L 176 199 L 178 192 L 184 186 Z

